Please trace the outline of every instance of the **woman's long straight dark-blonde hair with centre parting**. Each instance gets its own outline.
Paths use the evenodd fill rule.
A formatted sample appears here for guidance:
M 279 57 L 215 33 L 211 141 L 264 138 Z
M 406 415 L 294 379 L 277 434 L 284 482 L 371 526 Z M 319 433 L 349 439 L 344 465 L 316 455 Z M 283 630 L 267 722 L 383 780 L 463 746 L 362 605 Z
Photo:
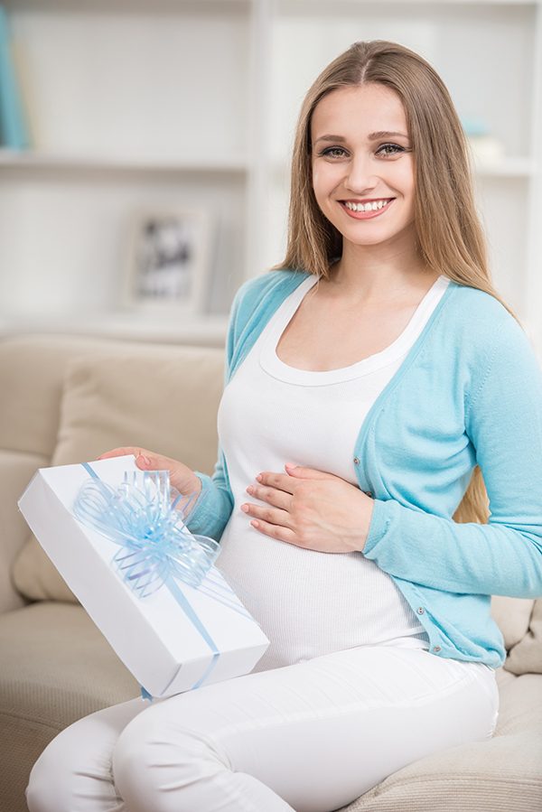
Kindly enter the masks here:
M 434 68 L 396 42 L 354 42 L 322 71 L 304 98 L 292 160 L 288 245 L 276 267 L 328 277 L 342 237 L 313 192 L 311 122 L 333 90 L 376 82 L 394 90 L 406 111 L 416 175 L 417 247 L 428 267 L 502 302 L 491 282 L 484 231 L 476 210 L 468 145 L 453 101 Z M 488 498 L 477 466 L 453 518 L 485 523 Z

